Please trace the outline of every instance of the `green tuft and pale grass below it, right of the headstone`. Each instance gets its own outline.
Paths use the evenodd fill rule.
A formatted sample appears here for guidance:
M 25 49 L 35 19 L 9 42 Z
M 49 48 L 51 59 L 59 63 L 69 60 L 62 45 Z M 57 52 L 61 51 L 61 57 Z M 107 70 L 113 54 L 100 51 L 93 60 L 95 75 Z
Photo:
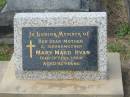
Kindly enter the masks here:
M 115 37 L 109 39 L 109 52 L 118 52 L 122 61 L 130 59 L 130 26 L 128 23 L 121 23 L 116 30 Z

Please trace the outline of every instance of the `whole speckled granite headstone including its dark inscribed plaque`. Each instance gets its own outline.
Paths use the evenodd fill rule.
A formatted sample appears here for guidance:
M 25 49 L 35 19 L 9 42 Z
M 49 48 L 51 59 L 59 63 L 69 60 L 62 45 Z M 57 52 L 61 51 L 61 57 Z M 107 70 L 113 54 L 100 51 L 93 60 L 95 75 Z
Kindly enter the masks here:
M 19 13 L 14 18 L 20 79 L 107 78 L 106 13 Z

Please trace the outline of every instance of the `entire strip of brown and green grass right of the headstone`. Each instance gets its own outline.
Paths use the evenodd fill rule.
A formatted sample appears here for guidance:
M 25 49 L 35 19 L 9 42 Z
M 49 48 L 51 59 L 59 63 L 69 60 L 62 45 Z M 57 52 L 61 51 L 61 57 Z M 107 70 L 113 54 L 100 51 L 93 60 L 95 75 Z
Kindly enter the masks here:
M 101 0 L 108 15 L 108 51 L 130 60 L 130 26 L 124 0 Z

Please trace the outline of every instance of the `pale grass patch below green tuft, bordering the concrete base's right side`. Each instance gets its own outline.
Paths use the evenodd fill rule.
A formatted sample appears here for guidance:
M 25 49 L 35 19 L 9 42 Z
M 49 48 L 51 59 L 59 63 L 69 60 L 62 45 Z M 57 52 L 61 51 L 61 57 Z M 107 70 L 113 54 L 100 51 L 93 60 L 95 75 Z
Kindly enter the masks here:
M 124 38 L 114 38 L 108 41 L 108 51 L 109 52 L 118 52 L 121 55 L 122 62 L 130 59 L 130 39 L 129 36 Z

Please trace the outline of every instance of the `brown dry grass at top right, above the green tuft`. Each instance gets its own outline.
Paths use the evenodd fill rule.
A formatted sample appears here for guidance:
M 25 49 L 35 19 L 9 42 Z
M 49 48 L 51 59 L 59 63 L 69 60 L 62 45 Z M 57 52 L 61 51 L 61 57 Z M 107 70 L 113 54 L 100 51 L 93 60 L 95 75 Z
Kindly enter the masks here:
M 124 0 L 101 0 L 108 15 L 108 36 L 114 37 L 119 25 L 128 22 Z

